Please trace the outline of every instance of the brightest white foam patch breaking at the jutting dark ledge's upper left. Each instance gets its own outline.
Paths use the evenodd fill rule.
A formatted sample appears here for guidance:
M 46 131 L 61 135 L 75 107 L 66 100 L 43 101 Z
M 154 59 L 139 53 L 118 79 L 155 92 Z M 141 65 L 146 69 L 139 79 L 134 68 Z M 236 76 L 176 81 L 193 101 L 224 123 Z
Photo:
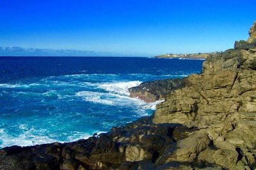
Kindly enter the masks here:
M 116 94 L 124 94 L 129 96 L 128 89 L 131 87 L 138 86 L 142 81 L 127 81 L 127 82 L 116 82 L 116 83 L 104 83 L 99 85 L 99 88 L 107 90 L 108 92 Z

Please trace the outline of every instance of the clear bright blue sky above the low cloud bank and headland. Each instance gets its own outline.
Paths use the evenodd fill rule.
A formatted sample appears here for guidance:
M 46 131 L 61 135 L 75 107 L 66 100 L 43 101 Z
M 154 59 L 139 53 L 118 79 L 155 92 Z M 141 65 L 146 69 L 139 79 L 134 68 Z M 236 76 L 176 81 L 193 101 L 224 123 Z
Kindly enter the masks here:
M 248 38 L 256 1 L 1 0 L 0 46 L 153 56 Z

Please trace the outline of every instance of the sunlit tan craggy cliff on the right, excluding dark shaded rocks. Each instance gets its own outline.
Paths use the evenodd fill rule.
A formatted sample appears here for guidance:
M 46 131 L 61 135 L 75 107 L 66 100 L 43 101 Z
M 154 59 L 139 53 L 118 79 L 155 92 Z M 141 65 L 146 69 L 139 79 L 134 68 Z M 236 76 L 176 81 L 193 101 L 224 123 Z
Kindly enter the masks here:
M 196 127 L 199 129 L 196 133 L 207 134 L 211 139 L 209 142 L 203 139 L 204 135 L 198 140 L 197 136 L 190 136 L 195 141 L 189 146 L 186 146 L 189 141 L 179 141 L 175 150 L 172 146 L 166 148 L 159 157 L 161 162 L 207 162 L 227 169 L 255 168 L 255 47 L 254 41 L 237 41 L 235 49 L 212 55 L 204 62 L 202 74 L 189 76 L 186 87 L 175 90 L 157 106 L 154 123 Z

